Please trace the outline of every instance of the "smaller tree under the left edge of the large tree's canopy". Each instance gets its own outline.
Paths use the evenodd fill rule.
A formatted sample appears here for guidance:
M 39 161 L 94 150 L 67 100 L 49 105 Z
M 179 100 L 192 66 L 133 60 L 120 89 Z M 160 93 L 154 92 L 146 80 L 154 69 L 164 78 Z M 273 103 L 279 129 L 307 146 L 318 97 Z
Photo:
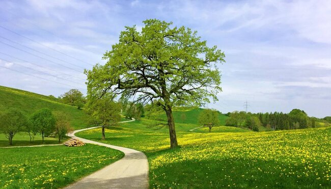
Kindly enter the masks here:
M 87 106 L 89 114 L 101 122 L 102 140 L 105 140 L 104 129 L 116 125 L 121 120 L 121 105 L 114 102 L 109 95 L 104 95 L 102 98 L 89 97 Z

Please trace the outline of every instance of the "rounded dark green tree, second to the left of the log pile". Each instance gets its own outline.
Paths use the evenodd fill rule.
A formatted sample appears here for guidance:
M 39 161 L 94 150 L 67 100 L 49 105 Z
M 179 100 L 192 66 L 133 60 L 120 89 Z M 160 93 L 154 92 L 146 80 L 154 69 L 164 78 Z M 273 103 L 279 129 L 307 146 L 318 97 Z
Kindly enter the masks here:
M 48 109 L 41 109 L 31 116 L 31 123 L 33 124 L 34 132 L 38 132 L 42 136 L 44 143 L 44 136 L 54 132 L 56 119 L 52 112 Z

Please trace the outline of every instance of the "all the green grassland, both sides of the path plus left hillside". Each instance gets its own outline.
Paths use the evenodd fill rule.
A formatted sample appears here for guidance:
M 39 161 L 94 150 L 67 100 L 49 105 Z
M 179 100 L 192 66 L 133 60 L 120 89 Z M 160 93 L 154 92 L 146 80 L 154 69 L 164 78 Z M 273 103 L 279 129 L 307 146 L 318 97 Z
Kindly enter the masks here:
M 29 116 L 48 107 L 68 113 L 75 129 L 88 126 L 83 111 L 57 98 L 6 87 L 0 87 L 0 97 L 2 109 L 21 107 Z M 174 111 L 180 145 L 175 149 L 169 149 L 169 129 L 162 113 L 109 127 L 104 141 L 101 128 L 78 132 L 76 136 L 143 151 L 149 161 L 150 188 L 331 185 L 331 127 L 270 132 L 263 132 L 268 129 L 261 127 L 262 132 L 254 132 L 223 126 L 228 117 L 219 114 L 220 126 L 209 132 L 197 124 L 201 111 L 184 107 Z M 37 144 L 41 144 L 39 135 L 33 143 L 26 133 L 18 133 L 13 140 L 13 146 Z M 57 140 L 45 138 L 45 144 L 57 144 Z M 5 146 L 8 140 L 0 134 L 0 147 Z M 61 188 L 123 157 L 122 152 L 96 145 L 0 148 L 0 155 L 0 188 Z

